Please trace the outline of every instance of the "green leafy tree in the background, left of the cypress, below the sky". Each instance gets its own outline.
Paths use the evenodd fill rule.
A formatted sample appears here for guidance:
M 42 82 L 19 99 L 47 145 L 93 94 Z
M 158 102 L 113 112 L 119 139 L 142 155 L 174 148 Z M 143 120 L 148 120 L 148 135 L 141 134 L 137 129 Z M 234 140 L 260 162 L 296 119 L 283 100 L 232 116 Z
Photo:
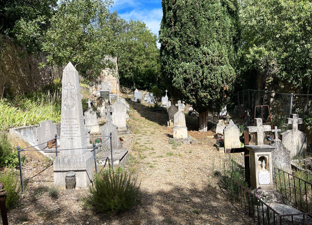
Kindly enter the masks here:
M 117 12 L 110 15 L 110 27 L 119 36 L 118 69 L 120 84 L 150 89 L 160 83 L 157 36 L 142 21 L 125 21 Z

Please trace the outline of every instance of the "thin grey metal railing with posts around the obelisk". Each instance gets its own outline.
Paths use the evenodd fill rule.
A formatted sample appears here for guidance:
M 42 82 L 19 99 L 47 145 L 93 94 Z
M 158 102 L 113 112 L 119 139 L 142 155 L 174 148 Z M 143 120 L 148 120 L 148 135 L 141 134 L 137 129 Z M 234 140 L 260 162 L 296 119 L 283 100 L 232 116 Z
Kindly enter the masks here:
M 70 149 L 57 149 L 57 139 L 59 139 L 59 137 L 57 137 L 57 135 L 55 135 L 55 138 L 46 141 L 44 143 L 41 143 L 39 145 L 48 143 L 50 141 L 55 141 L 55 150 L 41 150 L 41 149 L 30 149 L 33 147 L 37 147 L 39 145 L 34 145 L 34 146 L 30 146 L 27 148 L 23 148 L 21 149 L 20 146 L 17 146 L 17 153 L 18 153 L 18 162 L 19 162 L 19 171 L 20 171 L 20 178 L 21 178 L 21 187 L 22 187 L 22 192 L 24 192 L 24 182 L 23 182 L 23 173 L 22 173 L 22 160 L 21 160 L 21 151 L 44 151 L 44 152 L 55 152 L 56 156 L 57 156 L 57 152 L 58 151 L 66 151 L 66 150 L 79 150 L 79 149 L 90 149 L 90 151 L 93 151 L 93 157 L 94 157 L 94 167 L 95 167 L 95 173 L 97 173 L 97 166 L 96 166 L 96 152 L 95 150 L 101 146 L 103 143 L 105 143 L 106 141 L 110 140 L 110 155 L 111 155 L 111 167 L 113 168 L 113 148 L 112 148 L 112 132 L 110 132 L 109 136 L 98 136 L 98 137 L 107 137 L 105 141 L 102 141 L 101 143 L 99 143 L 98 145 L 95 145 L 95 143 L 93 143 L 92 147 L 87 147 L 87 148 L 70 148 Z

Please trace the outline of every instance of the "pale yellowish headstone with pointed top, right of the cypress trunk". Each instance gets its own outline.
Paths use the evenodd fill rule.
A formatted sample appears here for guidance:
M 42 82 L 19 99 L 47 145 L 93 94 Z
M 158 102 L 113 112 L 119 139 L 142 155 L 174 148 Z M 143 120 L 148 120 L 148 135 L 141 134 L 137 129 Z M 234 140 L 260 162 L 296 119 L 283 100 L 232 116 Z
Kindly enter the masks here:
M 240 148 L 241 141 L 239 140 L 239 128 L 230 120 L 229 124 L 223 130 L 224 148 Z

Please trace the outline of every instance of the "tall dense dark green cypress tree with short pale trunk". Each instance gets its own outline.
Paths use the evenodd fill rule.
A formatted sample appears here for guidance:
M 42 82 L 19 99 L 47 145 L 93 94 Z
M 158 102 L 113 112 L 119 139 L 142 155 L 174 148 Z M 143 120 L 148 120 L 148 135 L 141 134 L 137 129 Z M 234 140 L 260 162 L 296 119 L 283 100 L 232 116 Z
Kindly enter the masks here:
M 235 78 L 237 0 L 162 0 L 161 73 L 167 89 L 199 112 L 207 131 L 208 110 L 227 101 Z

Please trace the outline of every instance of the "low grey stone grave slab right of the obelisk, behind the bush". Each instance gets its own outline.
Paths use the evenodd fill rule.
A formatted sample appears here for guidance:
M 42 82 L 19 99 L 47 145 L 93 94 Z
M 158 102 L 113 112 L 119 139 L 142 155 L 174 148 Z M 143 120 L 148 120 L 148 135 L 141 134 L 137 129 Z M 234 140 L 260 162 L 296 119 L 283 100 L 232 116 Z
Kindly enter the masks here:
M 129 158 L 129 149 L 113 149 L 113 167 L 124 167 Z M 108 166 L 111 162 L 110 151 L 106 152 L 104 155 L 100 156 L 98 164 Z

